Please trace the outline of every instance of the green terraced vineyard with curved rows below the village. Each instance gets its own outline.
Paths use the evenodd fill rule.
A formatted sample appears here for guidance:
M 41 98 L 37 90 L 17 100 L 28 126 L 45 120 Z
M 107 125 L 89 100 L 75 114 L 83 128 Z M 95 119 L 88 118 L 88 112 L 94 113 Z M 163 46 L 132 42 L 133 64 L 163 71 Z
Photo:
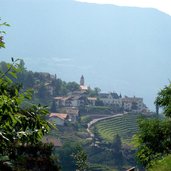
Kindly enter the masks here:
M 123 143 L 126 143 L 138 130 L 137 121 L 139 117 L 139 114 L 124 114 L 123 116 L 99 121 L 92 129 L 96 136 L 106 141 L 111 142 L 114 136 L 119 134 Z

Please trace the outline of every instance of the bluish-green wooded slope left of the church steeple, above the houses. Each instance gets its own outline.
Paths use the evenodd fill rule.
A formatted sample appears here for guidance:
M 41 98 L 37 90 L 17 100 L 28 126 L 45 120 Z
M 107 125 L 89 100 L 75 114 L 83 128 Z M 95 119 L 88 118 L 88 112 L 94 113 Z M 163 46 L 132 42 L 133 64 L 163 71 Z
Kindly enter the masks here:
M 9 70 L 12 70 L 9 67 L 13 65 L 3 61 L 0 62 L 1 73 L 5 73 L 7 78 L 14 83 L 22 84 L 24 90 L 33 89 L 33 103 L 50 105 L 54 96 L 64 96 L 69 92 L 79 90 L 79 84 L 76 82 L 66 83 L 49 73 L 28 71 L 23 60 L 18 60 L 15 65 L 13 72 L 16 69 L 20 71 L 16 71 L 16 74 L 9 72 Z

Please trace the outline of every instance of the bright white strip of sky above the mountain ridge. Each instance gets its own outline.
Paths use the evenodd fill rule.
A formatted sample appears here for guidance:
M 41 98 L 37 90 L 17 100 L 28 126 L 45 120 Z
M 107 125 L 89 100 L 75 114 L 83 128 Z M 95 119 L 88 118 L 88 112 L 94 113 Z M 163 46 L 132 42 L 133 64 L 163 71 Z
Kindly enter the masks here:
M 118 6 L 155 8 L 164 13 L 171 15 L 170 0 L 76 0 L 79 2 L 97 3 L 97 4 L 113 4 Z

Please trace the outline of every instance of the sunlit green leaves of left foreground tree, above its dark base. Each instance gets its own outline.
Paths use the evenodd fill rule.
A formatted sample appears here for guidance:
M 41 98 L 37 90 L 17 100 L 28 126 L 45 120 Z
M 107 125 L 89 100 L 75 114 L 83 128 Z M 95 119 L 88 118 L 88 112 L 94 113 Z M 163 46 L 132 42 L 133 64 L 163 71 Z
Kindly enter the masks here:
M 14 64 L 16 61 L 14 61 Z M 9 65 L 6 73 L 16 77 L 18 68 Z M 9 153 L 16 144 L 33 144 L 48 132 L 44 120 L 48 111 L 45 107 L 33 105 L 21 107 L 24 99 L 30 99 L 30 92 L 22 92 L 21 86 L 14 83 L 6 73 L 0 75 L 0 153 Z

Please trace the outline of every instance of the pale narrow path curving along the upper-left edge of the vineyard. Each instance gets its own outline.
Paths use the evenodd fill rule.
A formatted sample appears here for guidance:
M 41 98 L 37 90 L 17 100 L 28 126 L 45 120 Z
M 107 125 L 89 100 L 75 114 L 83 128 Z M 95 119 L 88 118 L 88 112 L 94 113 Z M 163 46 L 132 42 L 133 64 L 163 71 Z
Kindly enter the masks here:
M 106 116 L 106 117 L 102 117 L 102 118 L 98 118 L 98 119 L 93 119 L 92 121 L 90 121 L 88 124 L 87 124 L 87 132 L 90 134 L 91 137 L 94 137 L 94 134 L 91 132 L 90 130 L 90 127 L 95 124 L 96 122 L 99 122 L 99 121 L 102 121 L 102 120 L 105 120 L 105 119 L 110 119 L 110 118 L 114 118 L 114 117 L 117 117 L 117 116 L 122 116 L 123 114 L 115 114 L 115 115 L 112 115 L 112 116 Z

